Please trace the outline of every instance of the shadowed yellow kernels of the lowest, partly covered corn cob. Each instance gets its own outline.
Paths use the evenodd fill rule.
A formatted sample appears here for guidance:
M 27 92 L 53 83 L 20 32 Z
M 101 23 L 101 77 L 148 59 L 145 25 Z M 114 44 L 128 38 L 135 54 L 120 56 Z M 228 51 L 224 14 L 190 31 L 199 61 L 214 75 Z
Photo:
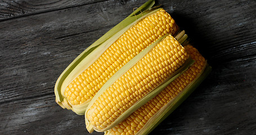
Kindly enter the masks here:
M 156 97 L 152 98 L 149 102 L 140 107 L 140 109 L 134 111 L 134 113 L 128 116 L 122 123 L 119 123 L 114 128 L 107 131 L 106 135 L 136 134 L 143 127 L 146 128 L 145 124 L 149 122 L 152 116 L 156 115 L 161 108 L 172 101 L 174 97 L 201 73 L 206 65 L 204 57 L 200 55 L 196 48 L 190 45 L 185 46 L 185 49 L 190 57 L 195 60 L 195 63 Z

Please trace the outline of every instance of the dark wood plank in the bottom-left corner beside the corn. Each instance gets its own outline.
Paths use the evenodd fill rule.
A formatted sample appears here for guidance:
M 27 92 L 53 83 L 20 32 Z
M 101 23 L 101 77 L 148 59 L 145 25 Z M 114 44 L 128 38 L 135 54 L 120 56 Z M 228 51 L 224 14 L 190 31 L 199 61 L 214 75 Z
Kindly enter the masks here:
M 52 89 L 49 89 L 51 91 Z M 78 134 L 87 132 L 84 118 L 63 111 L 49 95 L 1 104 L 1 134 Z M 56 114 L 56 115 L 52 115 Z

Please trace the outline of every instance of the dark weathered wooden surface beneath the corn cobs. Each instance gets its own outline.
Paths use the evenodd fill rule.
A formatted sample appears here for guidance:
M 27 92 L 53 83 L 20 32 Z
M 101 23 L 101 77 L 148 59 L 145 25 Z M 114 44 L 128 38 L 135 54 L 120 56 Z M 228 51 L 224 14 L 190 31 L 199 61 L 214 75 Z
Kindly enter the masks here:
M 84 116 L 56 104 L 55 82 L 144 2 L 0 1 L 0 134 L 89 134 Z M 213 70 L 151 134 L 256 134 L 256 1 L 157 3 Z

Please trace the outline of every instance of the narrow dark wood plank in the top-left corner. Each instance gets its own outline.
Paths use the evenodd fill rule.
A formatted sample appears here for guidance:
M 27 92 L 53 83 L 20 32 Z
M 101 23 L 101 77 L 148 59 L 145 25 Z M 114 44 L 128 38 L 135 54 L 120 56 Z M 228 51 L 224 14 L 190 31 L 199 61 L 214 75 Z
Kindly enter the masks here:
M 50 12 L 55 10 L 63 10 L 83 6 L 85 4 L 93 4 L 104 0 L 87 0 L 87 1 L 33 1 L 33 0 L 18 0 L 18 1 L 0 1 L 0 21 L 33 15 L 37 13 Z M 105 0 L 107 1 L 107 0 Z

